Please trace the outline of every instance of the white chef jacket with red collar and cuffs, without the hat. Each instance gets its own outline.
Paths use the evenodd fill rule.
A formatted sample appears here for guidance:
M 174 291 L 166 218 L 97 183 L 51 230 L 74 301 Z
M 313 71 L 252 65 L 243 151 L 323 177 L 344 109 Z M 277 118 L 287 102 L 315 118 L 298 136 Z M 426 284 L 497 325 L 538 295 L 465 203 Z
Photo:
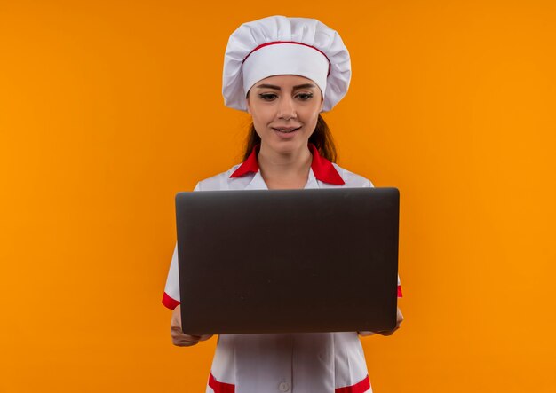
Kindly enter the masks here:
M 305 188 L 372 187 L 309 145 L 313 161 Z M 195 191 L 267 190 L 257 147 L 241 165 L 199 182 Z M 401 297 L 398 278 L 398 296 Z M 174 249 L 163 304 L 179 304 L 178 248 Z M 364 393 L 367 365 L 356 332 L 220 334 L 206 393 Z

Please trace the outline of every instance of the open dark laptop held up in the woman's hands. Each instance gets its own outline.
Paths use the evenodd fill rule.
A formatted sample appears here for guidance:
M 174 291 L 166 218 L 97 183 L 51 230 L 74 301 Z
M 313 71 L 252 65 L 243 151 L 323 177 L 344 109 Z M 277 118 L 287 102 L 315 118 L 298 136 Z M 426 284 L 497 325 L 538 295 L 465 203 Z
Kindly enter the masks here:
M 395 188 L 178 193 L 186 334 L 396 326 Z

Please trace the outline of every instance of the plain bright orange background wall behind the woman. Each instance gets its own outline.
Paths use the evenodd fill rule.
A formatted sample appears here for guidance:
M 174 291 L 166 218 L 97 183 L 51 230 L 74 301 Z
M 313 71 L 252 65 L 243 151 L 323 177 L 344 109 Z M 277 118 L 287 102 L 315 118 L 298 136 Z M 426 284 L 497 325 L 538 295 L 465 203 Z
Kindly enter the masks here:
M 342 35 L 339 164 L 401 190 L 406 321 L 363 339 L 376 393 L 556 391 L 556 3 L 0 3 L 0 391 L 203 391 L 171 345 L 174 194 L 228 169 L 228 35 Z

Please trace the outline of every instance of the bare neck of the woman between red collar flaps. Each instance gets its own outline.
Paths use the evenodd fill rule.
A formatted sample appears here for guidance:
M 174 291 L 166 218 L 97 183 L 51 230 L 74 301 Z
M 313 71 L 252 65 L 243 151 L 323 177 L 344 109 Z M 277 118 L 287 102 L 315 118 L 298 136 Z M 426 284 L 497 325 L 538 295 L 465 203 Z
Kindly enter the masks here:
M 312 158 L 306 145 L 296 151 L 279 153 L 261 144 L 257 161 L 268 188 L 303 188 Z

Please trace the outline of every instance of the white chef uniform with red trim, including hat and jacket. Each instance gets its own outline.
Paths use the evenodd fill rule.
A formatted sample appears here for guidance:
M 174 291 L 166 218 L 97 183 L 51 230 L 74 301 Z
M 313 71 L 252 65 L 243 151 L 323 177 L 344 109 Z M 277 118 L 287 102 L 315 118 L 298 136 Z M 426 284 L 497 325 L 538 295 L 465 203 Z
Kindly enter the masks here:
M 346 94 L 351 78 L 349 54 L 338 33 L 318 20 L 275 16 L 243 24 L 230 36 L 226 48 L 226 106 L 245 111 L 245 97 L 254 83 L 285 74 L 313 80 L 321 88 L 323 111 L 327 111 Z M 313 159 L 306 189 L 373 186 L 368 179 L 322 157 L 314 145 L 308 147 Z M 199 182 L 195 191 L 266 190 L 257 153 L 255 146 L 246 161 Z M 177 247 L 163 304 L 172 310 L 179 304 Z M 371 391 L 356 332 L 221 334 L 206 389 L 207 393 Z

